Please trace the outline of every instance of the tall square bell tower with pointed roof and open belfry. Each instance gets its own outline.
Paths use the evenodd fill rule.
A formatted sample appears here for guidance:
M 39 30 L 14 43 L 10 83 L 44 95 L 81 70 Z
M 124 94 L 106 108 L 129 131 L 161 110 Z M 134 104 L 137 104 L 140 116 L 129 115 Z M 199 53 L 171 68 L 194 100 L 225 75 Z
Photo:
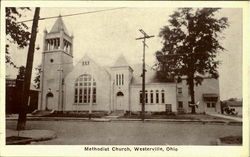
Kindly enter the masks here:
M 73 68 L 73 36 L 59 15 L 50 32 L 44 30 L 40 110 L 63 111 L 63 84 Z

